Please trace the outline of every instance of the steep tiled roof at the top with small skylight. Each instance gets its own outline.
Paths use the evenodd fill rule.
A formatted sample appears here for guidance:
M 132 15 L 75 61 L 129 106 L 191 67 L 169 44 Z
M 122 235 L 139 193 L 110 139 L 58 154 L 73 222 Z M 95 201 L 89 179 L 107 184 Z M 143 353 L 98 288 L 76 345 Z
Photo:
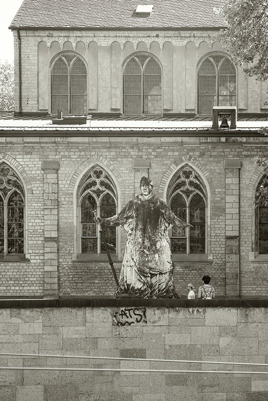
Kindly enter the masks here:
M 10 28 L 219 28 L 224 0 L 25 0 Z M 135 16 L 138 5 L 152 13 Z

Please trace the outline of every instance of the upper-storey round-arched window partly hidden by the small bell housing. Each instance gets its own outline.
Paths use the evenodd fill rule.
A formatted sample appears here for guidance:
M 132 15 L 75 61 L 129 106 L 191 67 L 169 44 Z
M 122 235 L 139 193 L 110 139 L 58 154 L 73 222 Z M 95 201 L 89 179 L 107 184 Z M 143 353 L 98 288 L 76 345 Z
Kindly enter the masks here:
M 212 114 L 213 106 L 236 105 L 236 70 L 222 54 L 208 56 L 198 70 L 198 113 Z

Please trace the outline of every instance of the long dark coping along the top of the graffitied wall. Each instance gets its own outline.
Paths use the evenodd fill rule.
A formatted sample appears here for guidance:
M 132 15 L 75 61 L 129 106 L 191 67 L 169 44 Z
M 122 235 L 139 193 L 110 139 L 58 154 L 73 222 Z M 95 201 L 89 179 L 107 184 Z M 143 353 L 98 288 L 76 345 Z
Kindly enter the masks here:
M 84 307 L 156 307 L 156 308 L 267 308 L 268 298 L 215 298 L 199 299 L 138 299 L 112 297 L 62 297 L 62 298 L 2 298 L 0 308 L 84 308 Z

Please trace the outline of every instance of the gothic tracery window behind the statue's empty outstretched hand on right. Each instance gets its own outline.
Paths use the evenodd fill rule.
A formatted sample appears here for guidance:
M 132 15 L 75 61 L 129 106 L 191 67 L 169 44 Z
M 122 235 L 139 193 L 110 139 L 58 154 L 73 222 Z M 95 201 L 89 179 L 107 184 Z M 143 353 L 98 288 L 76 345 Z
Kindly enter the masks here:
M 206 253 L 206 189 L 190 166 L 184 166 L 169 185 L 169 205 L 181 220 L 191 228 L 172 228 L 172 254 Z

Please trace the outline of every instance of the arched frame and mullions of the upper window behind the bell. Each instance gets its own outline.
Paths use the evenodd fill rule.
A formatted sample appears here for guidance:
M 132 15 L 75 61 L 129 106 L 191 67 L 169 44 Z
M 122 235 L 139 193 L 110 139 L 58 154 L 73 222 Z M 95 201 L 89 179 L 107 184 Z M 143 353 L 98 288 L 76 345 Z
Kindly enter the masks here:
M 214 56 L 221 56 L 221 57 L 223 57 L 222 58 L 222 60 L 219 62 L 219 64 L 218 64 L 218 66 L 216 66 L 216 64 L 215 64 L 215 61 L 213 60 L 213 57 Z M 197 65 L 197 74 L 196 74 L 196 82 L 197 82 L 197 91 L 196 91 L 196 104 L 197 104 L 197 114 L 200 114 L 200 115 L 208 115 L 208 114 L 212 114 L 212 107 L 213 107 L 213 105 L 212 105 L 212 107 L 211 107 L 211 111 L 209 112 L 209 113 L 201 113 L 200 112 L 200 102 L 199 102 L 199 98 L 201 97 L 201 96 L 205 96 L 205 95 L 199 95 L 199 71 L 200 71 L 200 68 L 202 67 L 202 65 L 203 65 L 203 63 L 207 60 L 207 59 L 210 59 L 210 61 L 212 62 L 212 64 L 213 64 L 213 66 L 214 66 L 214 68 L 215 68 L 215 77 L 216 77 L 216 79 L 215 79 L 215 95 L 210 95 L 211 97 L 212 96 L 215 96 L 215 104 L 213 104 L 214 106 L 222 106 L 223 104 L 220 104 L 221 103 L 221 100 L 223 100 L 223 98 L 224 97 L 228 97 L 228 96 L 232 96 L 232 97 L 234 97 L 234 99 L 235 99 L 235 102 L 232 102 L 232 103 L 234 103 L 234 104 L 228 104 L 228 106 L 236 106 L 237 105 L 237 77 L 238 77 L 238 75 L 237 75 L 237 68 L 235 67 L 235 65 L 232 63 L 232 61 L 231 61 L 231 59 L 230 59 L 230 57 L 229 57 L 229 55 L 227 54 L 227 53 L 224 53 L 224 52 L 218 52 L 218 51 L 216 51 L 216 52 L 211 52 L 211 53 L 209 53 L 209 54 L 206 54 L 204 57 L 202 57 L 201 58 L 201 60 L 199 61 L 199 63 L 198 63 L 198 65 Z M 232 66 L 233 66 L 233 68 L 234 68 L 234 70 L 235 70 L 235 75 L 234 74 L 229 74 L 228 76 L 233 76 L 233 77 L 235 77 L 235 91 L 234 91 L 234 94 L 232 94 L 232 95 L 223 95 L 223 94 L 221 94 L 221 93 L 219 93 L 219 76 L 220 76 L 220 74 L 218 74 L 218 71 L 219 71 L 219 69 L 220 69 L 220 66 L 222 65 L 222 63 L 223 63 L 223 61 L 225 60 L 225 59 L 227 59 L 231 64 L 232 64 Z M 224 76 L 224 74 L 222 74 L 222 76 Z M 209 95 L 207 95 L 207 96 L 209 96 Z M 222 98 L 222 99 L 220 99 L 220 98 Z M 225 104 L 224 104 L 224 106 L 225 106 Z M 227 105 L 226 105 L 226 107 L 228 107 Z

